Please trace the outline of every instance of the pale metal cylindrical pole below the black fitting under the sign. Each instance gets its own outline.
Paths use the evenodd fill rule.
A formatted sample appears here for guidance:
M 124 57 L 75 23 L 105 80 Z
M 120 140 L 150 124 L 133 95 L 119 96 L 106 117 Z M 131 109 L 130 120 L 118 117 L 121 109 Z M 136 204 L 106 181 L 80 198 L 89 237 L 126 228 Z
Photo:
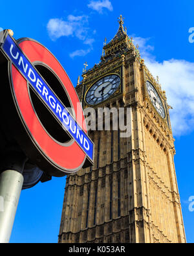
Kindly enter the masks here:
M 0 174 L 0 242 L 8 243 L 12 233 L 23 175 L 16 170 Z

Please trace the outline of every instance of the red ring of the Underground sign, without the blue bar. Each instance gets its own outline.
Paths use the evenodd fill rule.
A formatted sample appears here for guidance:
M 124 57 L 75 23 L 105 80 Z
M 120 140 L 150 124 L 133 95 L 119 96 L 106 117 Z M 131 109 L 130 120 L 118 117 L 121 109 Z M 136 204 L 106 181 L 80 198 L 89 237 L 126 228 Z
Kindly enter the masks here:
M 18 45 L 32 64 L 36 62 L 44 64 L 58 77 L 67 92 L 67 95 L 69 95 L 70 103 L 74 109 L 75 119 L 78 124 L 80 124 L 80 127 L 87 132 L 83 110 L 81 108 L 78 95 L 76 94 L 67 73 L 65 73 L 58 60 L 56 60 L 48 49 L 37 41 L 23 39 L 19 40 Z M 21 119 L 23 120 L 27 132 L 31 136 L 33 143 L 36 144 L 38 150 L 54 167 L 56 167 L 56 169 L 59 169 L 60 171 L 62 170 L 62 172 L 70 173 L 80 169 L 85 162 L 85 152 L 81 150 L 80 146 L 78 146 L 75 141 L 72 141 L 72 143 L 69 144 L 61 144 L 48 134 L 44 126 L 39 122 L 38 116 L 32 106 L 27 80 L 25 80 L 21 73 L 17 71 L 13 64 L 11 67 L 11 73 L 12 86 Z M 47 80 L 47 78 L 45 78 L 45 80 Z M 55 176 L 53 173 L 52 175 Z M 62 175 L 56 174 L 56 176 Z

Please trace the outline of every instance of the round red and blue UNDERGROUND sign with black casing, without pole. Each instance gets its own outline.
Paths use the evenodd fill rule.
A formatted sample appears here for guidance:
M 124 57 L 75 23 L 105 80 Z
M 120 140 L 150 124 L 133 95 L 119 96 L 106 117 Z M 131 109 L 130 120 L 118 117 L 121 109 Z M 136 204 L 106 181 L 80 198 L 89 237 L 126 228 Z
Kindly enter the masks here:
M 16 41 L 8 32 L 0 54 L 3 122 L 22 150 L 50 176 L 91 166 L 94 145 L 78 95 L 58 60 L 37 41 Z

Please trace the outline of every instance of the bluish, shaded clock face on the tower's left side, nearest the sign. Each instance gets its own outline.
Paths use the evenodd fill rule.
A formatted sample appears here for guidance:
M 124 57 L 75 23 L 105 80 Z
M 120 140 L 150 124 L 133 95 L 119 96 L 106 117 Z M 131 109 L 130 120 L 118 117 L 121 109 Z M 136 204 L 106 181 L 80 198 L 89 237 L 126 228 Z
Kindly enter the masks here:
M 113 95 L 119 86 L 120 77 L 118 75 L 105 76 L 91 86 L 85 100 L 91 105 L 99 104 Z

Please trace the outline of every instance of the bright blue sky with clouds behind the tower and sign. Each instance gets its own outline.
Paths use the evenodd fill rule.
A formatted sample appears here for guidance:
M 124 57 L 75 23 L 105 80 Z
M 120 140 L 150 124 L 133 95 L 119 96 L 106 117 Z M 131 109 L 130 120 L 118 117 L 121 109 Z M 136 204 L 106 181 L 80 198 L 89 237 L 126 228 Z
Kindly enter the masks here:
M 100 62 L 105 37 L 113 38 L 118 17 L 124 16 L 127 34 L 173 106 L 175 168 L 188 242 L 194 242 L 194 211 L 188 209 L 194 196 L 193 8 L 192 0 L 3 1 L 0 15 L 0 27 L 14 30 L 16 39 L 29 37 L 45 45 L 74 86 L 83 63 L 90 68 Z M 22 191 L 10 242 L 57 242 L 64 188 L 65 178 L 52 178 Z

